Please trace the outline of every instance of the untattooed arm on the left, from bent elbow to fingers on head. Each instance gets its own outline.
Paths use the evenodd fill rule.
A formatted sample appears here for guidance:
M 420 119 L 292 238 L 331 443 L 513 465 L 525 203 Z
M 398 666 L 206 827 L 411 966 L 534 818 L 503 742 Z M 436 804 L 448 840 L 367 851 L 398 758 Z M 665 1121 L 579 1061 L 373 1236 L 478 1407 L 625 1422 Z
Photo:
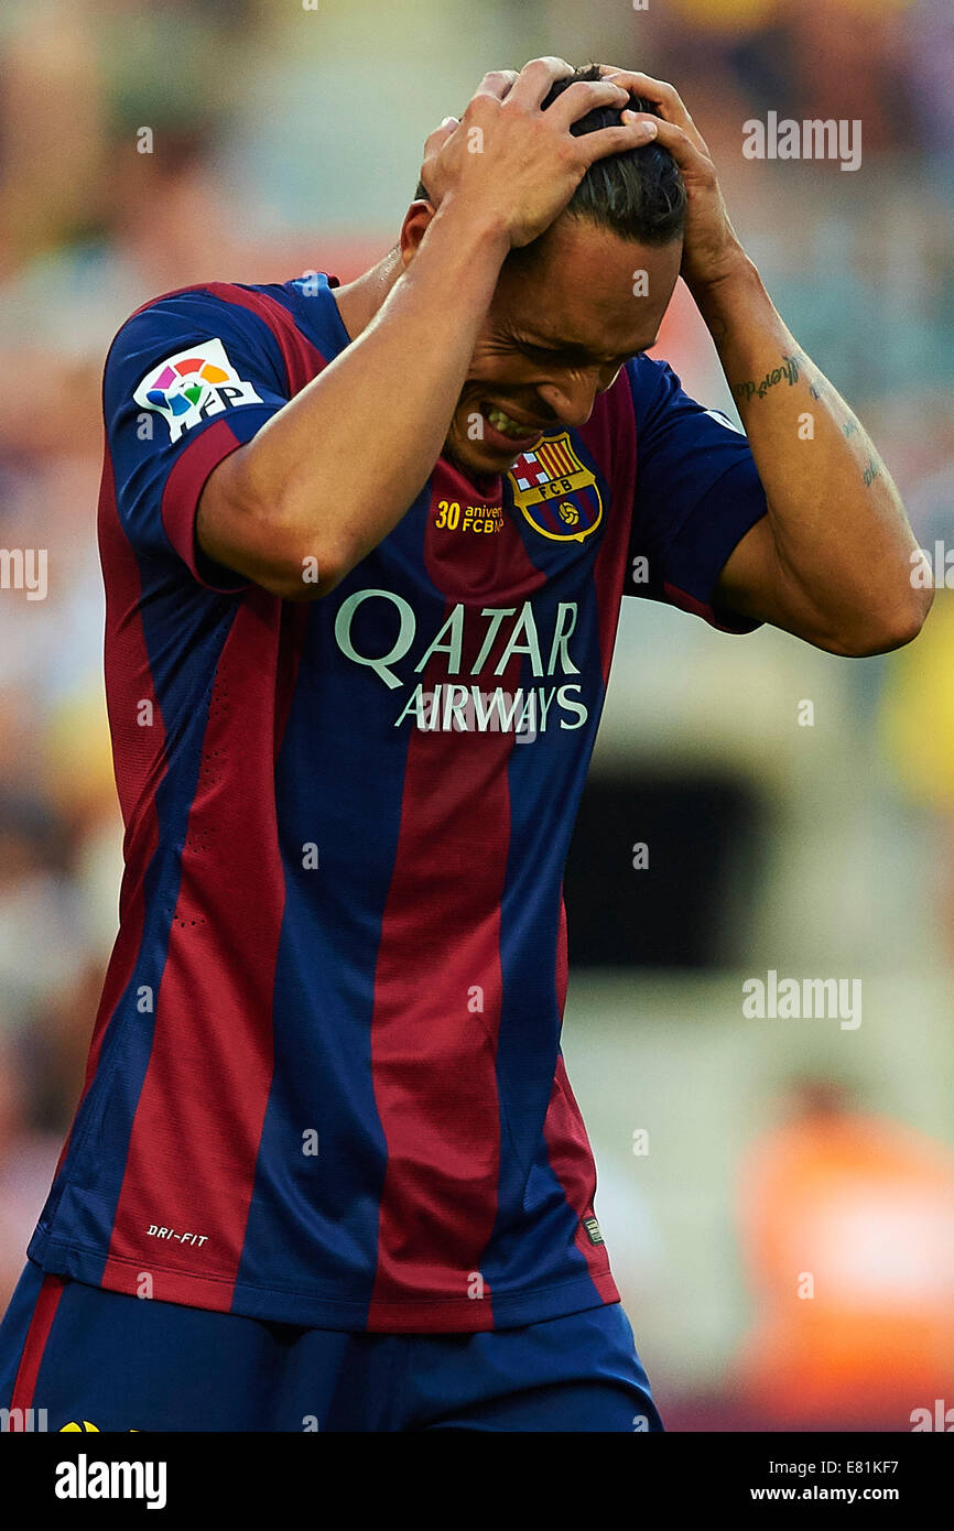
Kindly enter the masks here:
M 417 251 L 404 242 L 404 271 L 355 341 L 210 475 L 196 522 L 210 557 L 289 600 L 314 599 L 401 519 L 441 453 L 505 256 L 553 222 L 594 159 L 649 136 L 628 124 L 574 138 L 579 116 L 622 106 L 625 90 L 579 83 L 542 112 L 567 73 L 545 58 L 487 75 L 461 122 L 430 135 L 436 211 L 412 211 L 429 220 Z M 306 557 L 317 585 L 302 580 Z

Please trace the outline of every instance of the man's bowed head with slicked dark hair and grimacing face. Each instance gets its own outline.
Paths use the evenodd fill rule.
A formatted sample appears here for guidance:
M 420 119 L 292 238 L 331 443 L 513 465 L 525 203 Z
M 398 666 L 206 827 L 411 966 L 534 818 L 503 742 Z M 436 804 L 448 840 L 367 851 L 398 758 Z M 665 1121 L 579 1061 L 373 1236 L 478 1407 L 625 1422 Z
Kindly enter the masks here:
M 557 81 L 544 109 L 574 80 L 597 78 L 593 66 Z M 629 106 L 655 112 L 639 96 Z M 619 110 L 597 109 L 571 132 L 619 121 Z M 424 187 L 418 197 L 426 201 Z M 542 432 L 590 418 L 596 395 L 655 341 L 678 276 L 684 213 L 675 161 L 655 142 L 590 167 L 554 224 L 504 262 L 447 433 L 449 456 L 472 473 L 502 473 Z M 429 217 L 415 202 L 406 246 L 417 248 Z

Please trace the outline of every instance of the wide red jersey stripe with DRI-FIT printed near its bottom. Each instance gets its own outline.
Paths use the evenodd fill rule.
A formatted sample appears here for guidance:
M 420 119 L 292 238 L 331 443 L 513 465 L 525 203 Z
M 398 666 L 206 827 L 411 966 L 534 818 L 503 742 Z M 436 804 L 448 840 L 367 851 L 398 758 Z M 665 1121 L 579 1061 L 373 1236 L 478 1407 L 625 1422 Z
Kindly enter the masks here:
M 216 669 L 153 1044 L 103 1272 L 104 1286 L 136 1292 L 149 1271 L 153 1297 L 184 1303 L 198 1300 L 199 1277 L 202 1303 L 222 1311 L 242 1257 L 274 1063 L 285 880 L 277 837 L 248 834 L 248 805 L 274 793 L 280 608 L 250 589 Z M 245 717 L 268 730 L 268 749 L 236 733 L 239 698 Z M 150 1237 L 150 1228 L 165 1232 Z

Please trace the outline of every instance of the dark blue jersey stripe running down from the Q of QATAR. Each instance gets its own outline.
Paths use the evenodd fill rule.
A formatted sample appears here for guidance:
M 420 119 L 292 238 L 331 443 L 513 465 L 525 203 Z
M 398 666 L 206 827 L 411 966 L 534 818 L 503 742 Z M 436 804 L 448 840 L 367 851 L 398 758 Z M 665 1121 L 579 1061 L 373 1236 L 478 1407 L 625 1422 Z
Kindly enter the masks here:
M 423 573 L 429 507 L 430 482 L 401 522 L 404 547 L 418 550 L 413 583 L 401 588 L 394 554 L 378 568 L 372 553 L 338 585 L 334 602 L 311 608 L 276 769 L 286 905 L 276 969 L 274 1082 L 237 1288 L 274 1289 L 280 1251 L 282 1285 L 329 1301 L 345 1327 L 364 1326 L 377 1271 L 387 1153 L 374 1096 L 371 1027 L 413 732 L 409 721 L 395 727 L 401 692 L 343 663 L 334 625 L 348 596 L 380 586 L 412 602 L 418 631 L 429 625 L 436 631 L 446 602 Z M 366 651 L 386 654 L 394 603 L 366 605 Z M 340 724 L 332 738 L 329 718 Z M 303 867 L 306 844 L 319 848 L 317 870 Z M 312 975 L 305 992 L 302 972 Z M 317 1156 L 302 1151 L 309 1128 L 319 1134 Z M 346 1301 L 343 1289 L 351 1294 Z M 247 1291 L 242 1301 L 248 1311 Z

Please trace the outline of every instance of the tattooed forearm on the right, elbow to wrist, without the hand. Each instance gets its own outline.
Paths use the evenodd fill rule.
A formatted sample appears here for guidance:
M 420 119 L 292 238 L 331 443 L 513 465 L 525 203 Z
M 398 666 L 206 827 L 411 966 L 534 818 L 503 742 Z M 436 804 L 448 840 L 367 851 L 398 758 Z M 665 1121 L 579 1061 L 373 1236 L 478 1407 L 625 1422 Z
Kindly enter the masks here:
M 905 641 L 931 592 L 913 586 L 917 544 L 864 426 L 798 346 L 750 262 L 694 297 L 769 502 L 778 605 L 760 609 L 764 583 L 746 579 L 729 599 L 836 652 Z

